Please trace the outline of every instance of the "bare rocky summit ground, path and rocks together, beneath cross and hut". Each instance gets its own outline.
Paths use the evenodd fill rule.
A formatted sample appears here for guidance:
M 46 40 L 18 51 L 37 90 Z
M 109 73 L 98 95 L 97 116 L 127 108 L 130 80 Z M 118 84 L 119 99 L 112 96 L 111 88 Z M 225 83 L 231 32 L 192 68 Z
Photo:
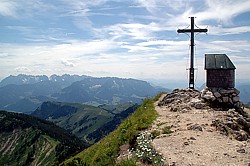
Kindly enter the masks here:
M 152 144 L 163 155 L 164 162 L 249 165 L 250 110 L 236 104 L 240 103 L 235 98 L 238 94 L 236 89 L 206 89 L 206 92 L 175 89 L 163 95 L 155 103 L 159 117 L 148 131 L 160 133 Z M 235 101 L 218 100 L 225 96 Z M 171 132 L 164 133 L 166 128 Z

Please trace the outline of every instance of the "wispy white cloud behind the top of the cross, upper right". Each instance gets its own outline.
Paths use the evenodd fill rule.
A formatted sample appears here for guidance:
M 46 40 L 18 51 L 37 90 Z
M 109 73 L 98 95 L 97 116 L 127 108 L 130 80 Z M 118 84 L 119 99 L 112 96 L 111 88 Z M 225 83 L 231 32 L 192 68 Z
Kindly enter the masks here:
M 196 3 L 202 3 L 200 0 L 190 1 L 186 8 L 179 8 L 178 14 L 172 13 L 168 19 L 168 25 L 185 26 L 190 24 L 188 17 L 197 17 L 196 23 L 215 20 L 219 24 L 230 25 L 233 19 L 238 15 L 250 11 L 249 0 L 206 0 L 203 4 L 206 8 L 202 11 L 197 10 Z

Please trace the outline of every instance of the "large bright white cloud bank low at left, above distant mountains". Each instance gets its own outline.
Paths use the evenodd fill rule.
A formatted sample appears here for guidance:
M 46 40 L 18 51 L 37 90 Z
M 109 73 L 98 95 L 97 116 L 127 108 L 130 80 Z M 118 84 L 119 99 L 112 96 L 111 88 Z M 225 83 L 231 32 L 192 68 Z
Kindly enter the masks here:
M 103 56 L 101 53 L 108 53 L 117 47 L 117 43 L 108 40 L 89 42 L 72 40 L 67 42 L 69 44 L 13 45 L 2 43 L 0 50 L 3 52 L 4 58 L 0 58 L 0 63 L 8 67 L 9 71 L 22 64 L 22 66 L 28 66 L 31 71 L 35 72 L 37 68 L 41 67 L 37 66 L 37 64 L 41 64 L 56 73 L 60 69 L 65 69 L 65 65 L 71 67 L 81 66 L 83 61 L 95 63 L 99 56 Z M 12 56 L 6 57 L 6 55 Z

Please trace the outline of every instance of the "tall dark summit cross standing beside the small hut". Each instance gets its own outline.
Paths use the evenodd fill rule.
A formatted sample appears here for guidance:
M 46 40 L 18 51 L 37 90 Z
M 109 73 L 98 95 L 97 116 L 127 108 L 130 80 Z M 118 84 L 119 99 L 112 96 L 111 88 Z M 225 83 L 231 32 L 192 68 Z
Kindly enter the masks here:
M 194 17 L 191 17 L 191 29 L 178 29 L 178 33 L 191 33 L 190 38 L 190 68 L 189 68 L 189 88 L 194 89 L 194 33 L 195 32 L 207 32 L 207 29 L 194 29 Z

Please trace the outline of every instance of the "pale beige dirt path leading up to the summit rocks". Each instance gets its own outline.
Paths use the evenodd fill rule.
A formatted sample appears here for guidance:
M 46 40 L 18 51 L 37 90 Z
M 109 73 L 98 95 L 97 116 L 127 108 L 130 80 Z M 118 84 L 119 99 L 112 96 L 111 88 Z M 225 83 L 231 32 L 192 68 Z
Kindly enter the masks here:
M 160 98 L 163 99 L 164 96 Z M 170 165 L 250 165 L 250 141 L 237 141 L 222 135 L 211 126 L 212 120 L 225 111 L 195 109 L 172 112 L 166 106 L 155 109 L 159 117 L 150 130 L 170 126 L 171 134 L 161 134 L 153 146 Z

